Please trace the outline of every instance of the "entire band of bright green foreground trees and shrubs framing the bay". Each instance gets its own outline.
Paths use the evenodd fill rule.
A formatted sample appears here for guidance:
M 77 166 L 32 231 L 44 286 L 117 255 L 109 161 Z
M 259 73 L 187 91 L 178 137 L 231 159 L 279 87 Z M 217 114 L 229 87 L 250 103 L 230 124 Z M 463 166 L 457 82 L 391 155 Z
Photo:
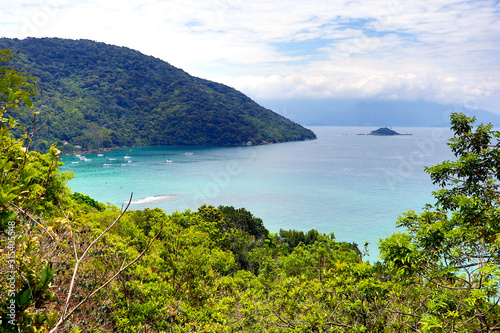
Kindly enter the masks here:
M 0 53 L 0 60 L 9 53 Z M 0 61 L 0 62 L 1 62 Z M 500 134 L 451 118 L 436 203 L 406 212 L 381 262 L 244 209 L 166 215 L 71 193 L 59 151 L 30 150 L 27 78 L 0 67 L 2 332 L 493 332 L 500 329 Z M 9 116 L 7 116 L 9 115 Z

